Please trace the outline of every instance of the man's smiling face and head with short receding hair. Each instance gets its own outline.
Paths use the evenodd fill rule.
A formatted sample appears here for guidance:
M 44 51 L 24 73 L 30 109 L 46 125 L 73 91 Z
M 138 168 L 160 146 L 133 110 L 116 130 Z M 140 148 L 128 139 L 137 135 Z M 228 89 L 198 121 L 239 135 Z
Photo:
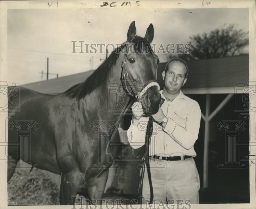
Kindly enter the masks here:
M 186 66 L 179 61 L 172 61 L 166 72 L 163 72 L 164 87 L 169 94 L 177 94 L 186 83 Z

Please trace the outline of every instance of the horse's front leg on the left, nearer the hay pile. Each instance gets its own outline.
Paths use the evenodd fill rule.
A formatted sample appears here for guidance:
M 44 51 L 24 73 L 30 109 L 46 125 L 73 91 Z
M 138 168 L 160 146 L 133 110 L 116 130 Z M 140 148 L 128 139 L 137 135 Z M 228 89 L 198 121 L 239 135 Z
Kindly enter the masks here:
M 80 185 L 84 183 L 84 178 L 79 170 L 72 170 L 61 174 L 60 184 L 60 204 L 73 205 Z

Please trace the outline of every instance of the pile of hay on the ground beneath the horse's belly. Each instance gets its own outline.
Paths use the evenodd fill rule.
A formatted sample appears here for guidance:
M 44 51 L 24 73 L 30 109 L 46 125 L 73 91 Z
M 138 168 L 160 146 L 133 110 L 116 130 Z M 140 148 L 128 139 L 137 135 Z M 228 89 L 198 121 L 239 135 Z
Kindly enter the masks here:
M 40 169 L 17 167 L 8 182 L 8 205 L 59 205 L 59 189 Z

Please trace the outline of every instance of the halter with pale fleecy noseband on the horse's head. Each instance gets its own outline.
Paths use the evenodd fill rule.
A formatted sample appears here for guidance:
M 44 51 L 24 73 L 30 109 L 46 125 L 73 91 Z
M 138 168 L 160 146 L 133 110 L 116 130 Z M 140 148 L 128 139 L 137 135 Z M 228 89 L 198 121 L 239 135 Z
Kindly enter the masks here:
M 142 98 L 142 96 L 145 94 L 145 92 L 148 90 L 148 88 L 150 88 L 151 86 L 157 86 L 158 90 L 160 90 L 160 86 L 157 82 L 151 82 L 147 86 L 145 86 L 139 93 L 135 94 L 135 92 L 132 90 L 133 89 L 132 86 L 134 86 L 134 85 L 131 85 L 130 84 L 131 80 L 127 79 L 127 78 L 129 78 L 129 75 L 126 70 L 127 67 L 126 67 L 125 57 L 127 59 L 127 56 L 125 56 L 125 55 L 126 54 L 124 54 L 124 59 L 122 62 L 122 81 L 121 81 L 122 83 L 121 84 L 124 84 L 124 87 L 125 87 L 126 91 L 128 92 L 128 94 L 130 94 L 131 96 L 135 95 L 136 100 L 140 100 Z M 157 69 L 157 66 L 156 66 L 156 69 Z M 130 88 L 128 88 L 128 86 Z

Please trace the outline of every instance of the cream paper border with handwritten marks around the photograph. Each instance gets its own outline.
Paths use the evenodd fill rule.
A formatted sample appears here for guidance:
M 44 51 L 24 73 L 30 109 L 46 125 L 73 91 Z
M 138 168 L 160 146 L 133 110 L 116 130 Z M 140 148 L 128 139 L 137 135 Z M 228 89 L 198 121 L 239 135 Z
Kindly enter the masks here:
M 7 71 L 7 11 L 8 9 L 68 9 L 68 8 L 102 8 L 101 5 L 103 2 L 114 2 L 114 1 L 0 1 L 0 26 L 1 26 L 1 39 L 0 39 L 0 80 L 5 80 L 8 76 Z M 124 1 L 116 0 L 119 5 L 121 5 Z M 130 1 L 135 2 L 136 1 Z M 136 4 L 131 4 L 131 9 L 134 9 Z M 248 8 L 249 9 L 249 80 L 252 81 L 252 85 L 256 86 L 255 83 L 255 1 L 157 1 L 157 0 L 141 0 L 140 8 Z M 108 7 L 109 8 L 109 7 Z M 102 8 L 104 9 L 104 8 Z M 113 9 L 122 9 L 121 6 L 113 7 Z M 127 8 L 126 8 L 127 9 Z M 138 8 L 136 8 L 138 9 Z M 10 84 L 8 84 L 10 85 Z M 254 95 L 255 97 L 255 95 Z M 0 103 L 7 103 L 6 100 L 1 97 Z M 2 106 L 1 106 L 2 107 Z M 254 106 L 255 107 L 255 104 Z M 3 114 L 7 114 L 6 112 L 0 112 L 0 138 L 1 145 L 6 143 L 5 139 L 5 117 Z M 255 143 L 255 112 L 250 112 L 250 142 Z M 251 146 L 250 155 L 254 155 L 255 157 L 255 148 L 256 146 Z M 5 146 L 0 146 L 0 159 L 5 159 Z M 250 165 L 250 203 L 248 204 L 197 204 L 191 205 L 191 208 L 255 208 L 255 159 L 254 165 Z M 1 208 L 49 208 L 49 206 L 7 206 L 7 161 L 0 160 L 0 182 L 1 182 L 1 192 L 0 192 L 0 207 Z M 134 205 L 134 208 L 140 208 L 140 205 Z M 72 206 L 50 206 L 54 208 L 73 208 Z M 94 208 L 93 206 L 92 208 Z M 116 205 L 115 208 L 119 208 L 120 206 Z M 79 205 L 76 205 L 75 208 L 80 208 Z M 106 208 L 104 205 L 97 206 L 97 208 Z M 145 208 L 145 207 L 143 207 Z

